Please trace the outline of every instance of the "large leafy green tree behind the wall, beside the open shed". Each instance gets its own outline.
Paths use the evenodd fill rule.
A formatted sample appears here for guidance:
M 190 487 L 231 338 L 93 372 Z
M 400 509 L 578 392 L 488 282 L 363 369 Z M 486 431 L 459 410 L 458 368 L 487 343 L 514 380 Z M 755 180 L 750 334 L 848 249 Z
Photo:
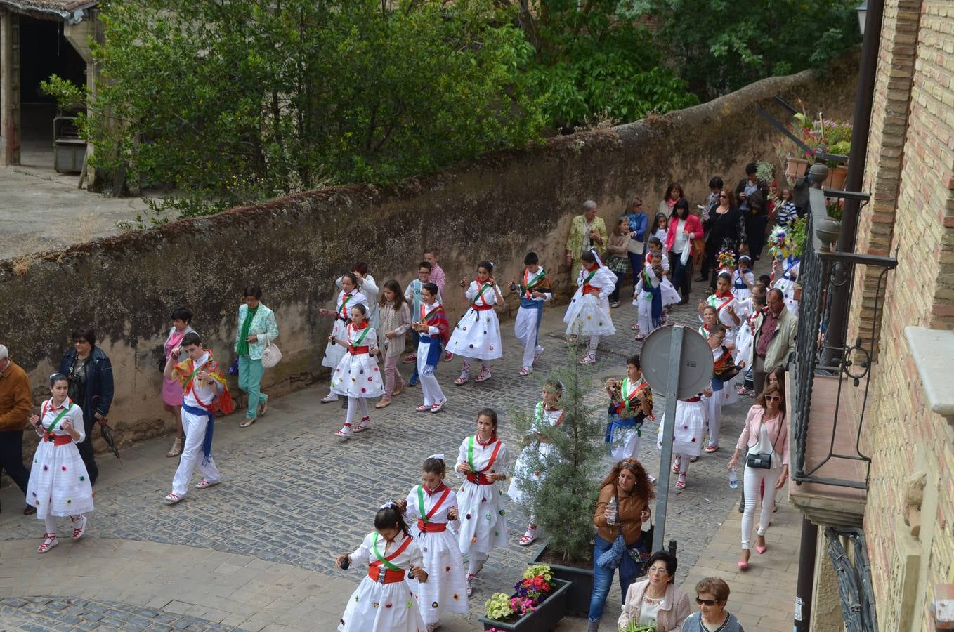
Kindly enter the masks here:
M 532 50 L 491 0 L 110 0 L 95 166 L 206 214 L 538 137 Z

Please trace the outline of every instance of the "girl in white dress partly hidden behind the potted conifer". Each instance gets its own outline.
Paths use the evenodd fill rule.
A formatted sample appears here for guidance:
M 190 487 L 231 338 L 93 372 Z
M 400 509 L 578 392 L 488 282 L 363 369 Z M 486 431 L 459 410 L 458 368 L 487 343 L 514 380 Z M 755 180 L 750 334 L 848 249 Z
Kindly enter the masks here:
M 544 472 L 538 471 L 535 472 L 533 468 L 534 463 L 546 464 L 547 456 L 550 454 L 552 445 L 550 439 L 543 434 L 543 429 L 553 426 L 559 427 L 563 423 L 563 418 L 566 415 L 566 412 L 560 408 L 560 398 L 563 397 L 563 384 L 556 380 L 549 380 L 543 386 L 543 399 L 537 403 L 536 407 L 533 409 L 533 426 L 534 432 L 531 433 L 525 440 L 525 446 L 520 452 L 520 456 L 517 457 L 516 465 L 513 466 L 514 476 L 510 479 L 510 485 L 507 488 L 507 495 L 513 499 L 514 502 L 524 503 L 526 498 L 524 496 L 524 488 L 521 486 L 521 482 L 527 483 L 528 480 L 538 483 L 544 478 Z M 539 455 L 534 459 L 534 453 Z M 519 477 L 519 479 L 518 479 Z M 529 524 L 527 525 L 527 532 L 520 537 L 520 540 L 517 540 L 517 543 L 521 546 L 528 546 L 536 540 L 536 517 L 533 515 L 532 510 L 529 512 Z

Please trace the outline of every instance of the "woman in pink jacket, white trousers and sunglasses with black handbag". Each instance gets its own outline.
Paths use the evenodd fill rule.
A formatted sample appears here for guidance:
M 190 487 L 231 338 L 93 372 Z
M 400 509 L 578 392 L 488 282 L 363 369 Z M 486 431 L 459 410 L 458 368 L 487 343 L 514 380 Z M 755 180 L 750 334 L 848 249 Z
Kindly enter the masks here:
M 742 554 L 738 558 L 739 570 L 749 568 L 752 522 L 756 513 L 759 487 L 765 482 L 765 497 L 759 516 L 756 551 L 765 553 L 765 530 L 772 519 L 776 493 L 788 479 L 788 425 L 785 423 L 785 398 L 778 386 L 770 384 L 756 399 L 757 404 L 749 409 L 749 417 L 736 443 L 736 453 L 729 459 L 728 469 L 738 463 L 738 457 L 746 449 L 745 511 L 742 514 Z

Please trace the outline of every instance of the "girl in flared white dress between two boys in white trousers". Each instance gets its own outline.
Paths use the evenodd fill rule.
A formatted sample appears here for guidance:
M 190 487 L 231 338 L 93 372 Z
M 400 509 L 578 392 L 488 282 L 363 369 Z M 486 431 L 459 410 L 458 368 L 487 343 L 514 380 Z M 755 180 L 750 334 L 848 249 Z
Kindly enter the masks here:
M 447 351 L 464 357 L 461 365 L 461 377 L 454 380 L 460 386 L 470 379 L 470 359 L 479 359 L 481 362 L 480 375 L 474 378 L 475 382 L 482 382 L 490 378 L 490 362 L 497 357 L 504 357 L 504 345 L 500 338 L 500 320 L 494 312 L 494 305 L 502 305 L 504 296 L 500 293 L 500 286 L 493 281 L 493 263 L 481 261 L 477 266 L 477 276 L 467 284 L 467 279 L 461 279 L 461 287 L 467 288 L 464 293 L 470 301 L 467 313 L 458 321 L 447 342 Z

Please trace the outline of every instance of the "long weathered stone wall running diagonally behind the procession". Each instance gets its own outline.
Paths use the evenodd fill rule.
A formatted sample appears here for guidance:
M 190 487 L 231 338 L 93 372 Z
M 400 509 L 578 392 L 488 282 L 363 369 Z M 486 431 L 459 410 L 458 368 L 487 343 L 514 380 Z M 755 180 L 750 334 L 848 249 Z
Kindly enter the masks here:
M 30 373 L 39 398 L 73 328 L 93 323 L 114 364 L 110 417 L 120 439 L 168 432 L 173 421 L 161 409 L 158 362 L 173 307 L 193 311 L 197 331 L 227 363 L 242 288 L 259 284 L 278 317 L 284 355 L 263 385 L 280 395 L 321 377 L 331 323 L 317 311 L 331 305 L 332 280 L 351 262 L 366 260 L 379 282 L 404 284 L 425 248 L 436 248 L 450 279 L 453 319 L 465 308 L 453 279 L 472 275 L 482 259 L 497 263 L 498 280 L 515 278 L 532 249 L 565 297 L 564 241 L 583 200 L 595 199 L 608 225 L 633 195 L 653 213 L 671 179 L 701 201 L 712 175 L 736 182 L 748 161 L 774 159 L 778 133 L 758 107 L 787 120 L 772 101 L 780 94 L 801 99 L 811 112 L 848 117 L 854 94 L 844 85 L 856 74 L 857 57 L 848 56 L 825 81 L 807 71 L 769 78 L 695 108 L 488 154 L 391 186 L 297 194 L 2 262 L 2 341 Z M 507 313 L 515 309 L 511 296 Z

